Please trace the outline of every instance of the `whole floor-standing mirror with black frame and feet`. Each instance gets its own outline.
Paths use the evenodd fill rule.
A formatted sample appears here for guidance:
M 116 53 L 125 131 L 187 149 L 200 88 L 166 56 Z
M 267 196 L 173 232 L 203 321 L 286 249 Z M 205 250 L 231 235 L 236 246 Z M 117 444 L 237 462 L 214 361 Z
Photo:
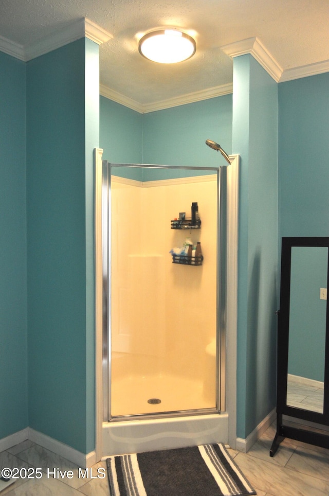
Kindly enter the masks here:
M 329 448 L 329 238 L 282 238 L 277 433 Z

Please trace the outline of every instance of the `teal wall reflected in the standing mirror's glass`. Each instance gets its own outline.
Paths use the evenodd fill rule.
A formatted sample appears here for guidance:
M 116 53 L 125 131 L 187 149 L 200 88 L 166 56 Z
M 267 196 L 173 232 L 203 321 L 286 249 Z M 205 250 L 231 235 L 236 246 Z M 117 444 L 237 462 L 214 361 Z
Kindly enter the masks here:
M 288 374 L 324 381 L 328 249 L 291 249 Z

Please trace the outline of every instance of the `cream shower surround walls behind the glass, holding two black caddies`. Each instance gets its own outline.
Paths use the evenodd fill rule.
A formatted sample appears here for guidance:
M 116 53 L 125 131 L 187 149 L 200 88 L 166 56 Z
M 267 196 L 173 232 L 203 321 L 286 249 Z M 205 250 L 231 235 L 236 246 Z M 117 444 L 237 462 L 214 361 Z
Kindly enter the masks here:
M 184 182 L 112 176 L 111 189 L 114 358 L 141 354 L 153 358 L 150 374 L 200 379 L 206 347 L 216 335 L 217 175 Z M 192 201 L 198 202 L 202 228 L 171 229 L 170 220 L 179 211 L 189 212 Z M 202 242 L 202 267 L 172 263 L 170 249 L 187 237 Z M 122 374 L 115 363 L 112 373 Z M 215 374 L 214 359 L 213 406 Z

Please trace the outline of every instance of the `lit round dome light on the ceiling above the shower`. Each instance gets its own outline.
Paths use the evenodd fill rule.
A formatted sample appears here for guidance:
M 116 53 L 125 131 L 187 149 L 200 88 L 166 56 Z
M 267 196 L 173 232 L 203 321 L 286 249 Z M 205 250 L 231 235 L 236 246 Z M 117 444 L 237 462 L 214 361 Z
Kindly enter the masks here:
M 162 29 L 145 34 L 139 41 L 139 53 L 160 64 L 174 64 L 195 54 L 195 41 L 176 29 Z

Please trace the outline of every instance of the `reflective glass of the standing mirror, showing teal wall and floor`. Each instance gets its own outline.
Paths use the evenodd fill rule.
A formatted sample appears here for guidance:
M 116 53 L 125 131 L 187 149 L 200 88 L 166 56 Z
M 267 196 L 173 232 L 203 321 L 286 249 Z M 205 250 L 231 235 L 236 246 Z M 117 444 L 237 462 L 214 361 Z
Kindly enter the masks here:
M 323 414 L 328 249 L 291 248 L 287 405 Z

